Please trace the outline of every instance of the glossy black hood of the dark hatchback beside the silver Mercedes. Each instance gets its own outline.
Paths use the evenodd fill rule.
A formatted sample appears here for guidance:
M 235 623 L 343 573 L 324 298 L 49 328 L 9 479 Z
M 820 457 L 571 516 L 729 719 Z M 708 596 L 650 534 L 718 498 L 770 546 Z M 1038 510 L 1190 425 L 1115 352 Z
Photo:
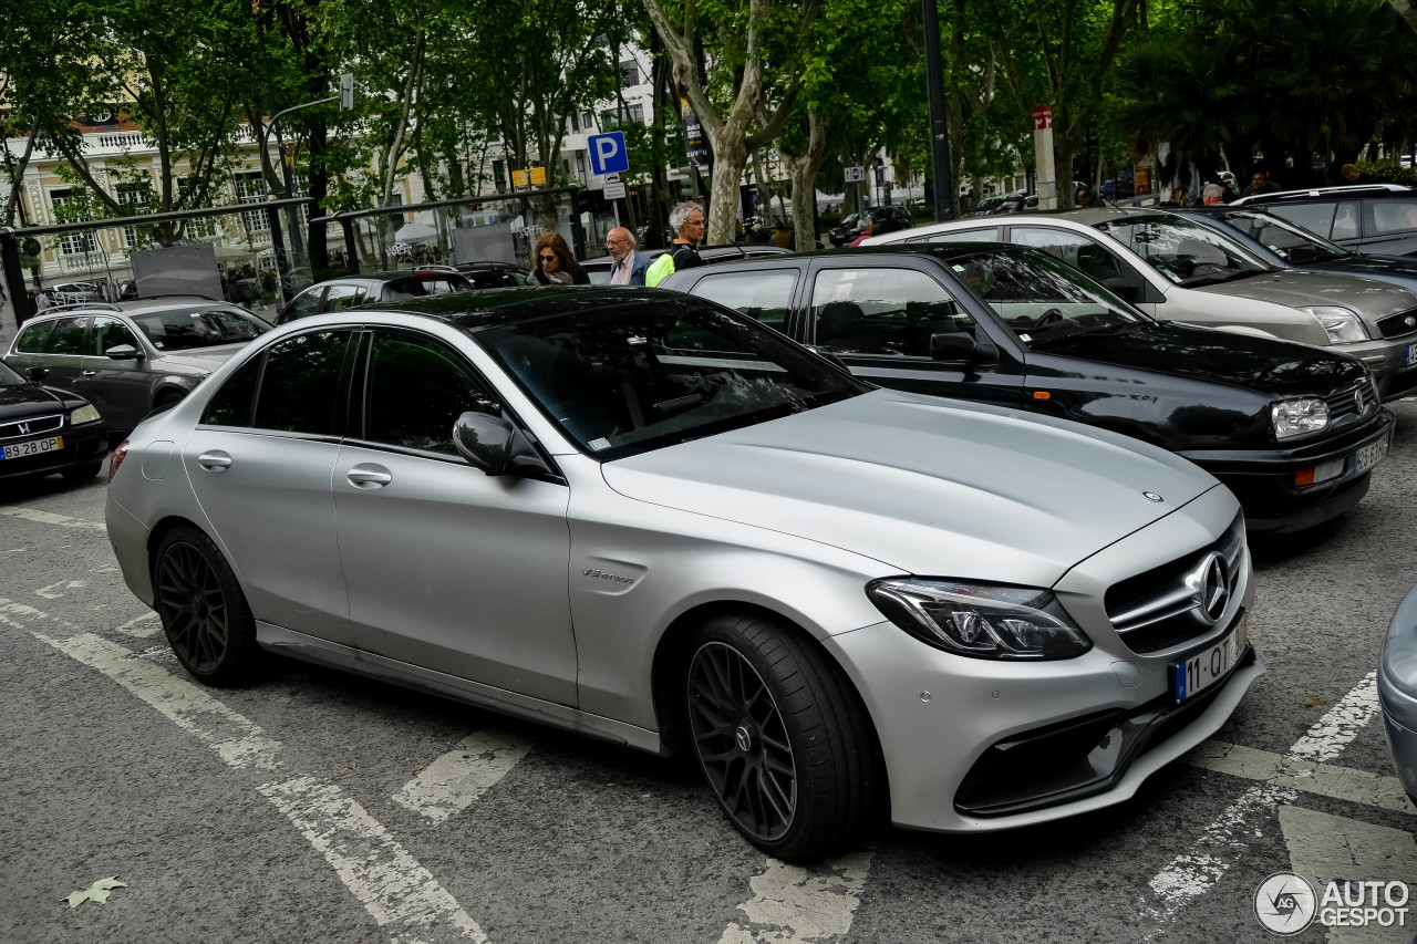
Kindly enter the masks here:
M 1366 374 L 1357 360 L 1323 347 L 1176 323 L 1148 323 L 1117 335 L 1071 335 L 1036 350 L 1241 387 L 1267 398 L 1328 397 Z

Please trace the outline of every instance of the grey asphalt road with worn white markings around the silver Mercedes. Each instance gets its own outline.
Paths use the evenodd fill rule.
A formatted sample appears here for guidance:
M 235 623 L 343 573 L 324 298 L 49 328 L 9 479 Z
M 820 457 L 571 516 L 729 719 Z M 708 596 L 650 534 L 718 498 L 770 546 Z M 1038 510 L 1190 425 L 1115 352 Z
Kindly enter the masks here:
M 0 941 L 1231 943 L 1274 937 L 1274 872 L 1417 884 L 1365 686 L 1417 581 L 1396 411 L 1355 513 L 1255 547 L 1268 673 L 1206 748 L 1101 814 L 809 869 L 655 757 L 295 663 L 203 689 L 122 584 L 105 479 L 0 486 Z M 1413 940 L 1373 931 L 1292 940 Z

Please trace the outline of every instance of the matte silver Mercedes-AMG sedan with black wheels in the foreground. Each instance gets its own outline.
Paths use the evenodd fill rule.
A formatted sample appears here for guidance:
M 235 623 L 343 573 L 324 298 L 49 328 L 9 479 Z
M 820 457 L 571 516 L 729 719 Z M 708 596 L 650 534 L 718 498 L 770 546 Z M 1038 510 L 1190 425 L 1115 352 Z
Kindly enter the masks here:
M 697 758 L 758 848 L 1131 797 L 1263 672 L 1233 495 L 1102 429 L 877 390 L 717 305 L 493 289 L 256 339 L 115 451 L 123 575 L 266 652 Z

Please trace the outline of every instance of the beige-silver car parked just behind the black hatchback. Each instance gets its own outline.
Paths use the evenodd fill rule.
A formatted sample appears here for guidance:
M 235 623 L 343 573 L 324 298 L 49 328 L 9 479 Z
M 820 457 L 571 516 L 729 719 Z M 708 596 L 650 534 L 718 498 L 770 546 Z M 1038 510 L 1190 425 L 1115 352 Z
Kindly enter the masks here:
M 1332 347 L 1391 386 L 1407 343 L 1383 336 L 1391 318 L 1417 313 L 1417 295 L 1339 272 L 1281 269 L 1203 223 L 1165 210 L 1111 207 L 956 220 L 887 242 L 1002 241 L 1040 247 L 1152 318 Z M 1399 388 L 1400 390 L 1400 388 Z

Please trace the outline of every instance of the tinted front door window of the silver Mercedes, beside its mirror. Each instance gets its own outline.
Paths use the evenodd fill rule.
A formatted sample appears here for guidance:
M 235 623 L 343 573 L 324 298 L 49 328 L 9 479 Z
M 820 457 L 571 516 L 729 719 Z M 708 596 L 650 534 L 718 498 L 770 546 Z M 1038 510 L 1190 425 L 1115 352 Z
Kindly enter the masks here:
M 468 411 L 500 415 L 490 388 L 434 337 L 377 332 L 368 356 L 364 439 L 458 455 L 452 428 Z

